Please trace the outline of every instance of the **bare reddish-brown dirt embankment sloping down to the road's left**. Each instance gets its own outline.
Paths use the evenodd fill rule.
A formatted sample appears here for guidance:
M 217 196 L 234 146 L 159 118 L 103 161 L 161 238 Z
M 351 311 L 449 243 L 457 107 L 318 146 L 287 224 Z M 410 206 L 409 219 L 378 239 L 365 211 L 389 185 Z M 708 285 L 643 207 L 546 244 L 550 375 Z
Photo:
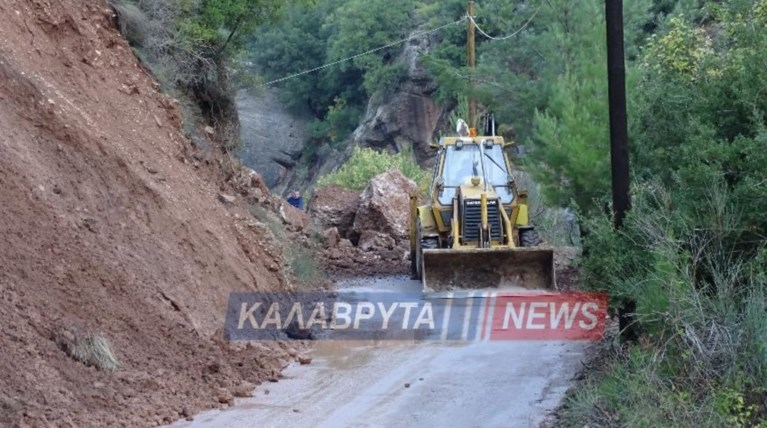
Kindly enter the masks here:
M 0 425 L 169 422 L 294 353 L 216 339 L 230 292 L 290 287 L 284 260 L 112 19 L 102 1 L 0 2 Z M 118 369 L 64 352 L 91 333 Z

